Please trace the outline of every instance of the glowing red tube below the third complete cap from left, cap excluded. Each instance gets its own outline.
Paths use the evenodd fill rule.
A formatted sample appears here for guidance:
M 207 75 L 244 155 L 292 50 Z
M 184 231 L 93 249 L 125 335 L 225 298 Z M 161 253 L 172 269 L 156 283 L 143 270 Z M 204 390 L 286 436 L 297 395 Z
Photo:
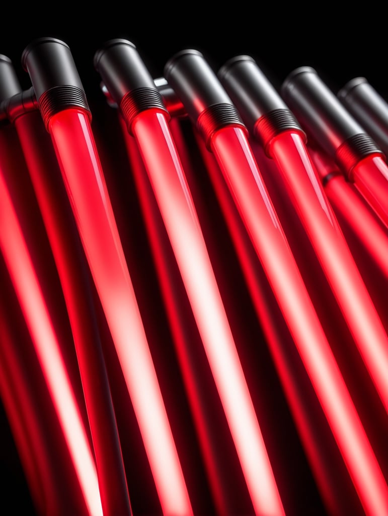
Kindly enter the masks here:
M 302 282 L 246 136 L 225 127 L 211 140 L 239 212 L 288 321 L 367 514 L 388 510 L 388 488 L 330 345 Z

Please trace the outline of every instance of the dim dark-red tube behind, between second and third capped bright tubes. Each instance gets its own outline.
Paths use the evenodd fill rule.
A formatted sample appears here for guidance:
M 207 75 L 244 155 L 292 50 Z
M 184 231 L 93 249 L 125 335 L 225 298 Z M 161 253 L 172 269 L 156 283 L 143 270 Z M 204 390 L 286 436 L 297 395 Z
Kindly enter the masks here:
M 271 294 L 272 291 L 268 281 L 264 278 L 264 271 L 261 272 L 258 255 L 252 246 L 214 154 L 206 148 L 204 139 L 197 131 L 195 131 L 195 136 L 216 191 L 217 199 L 223 209 L 249 292 L 254 301 L 319 492 L 330 513 L 340 514 L 349 510 L 356 513 L 358 509 L 356 510 L 353 506 L 355 500 L 347 482 L 345 481 L 340 485 L 339 478 L 343 479 L 344 477 L 342 475 L 334 476 L 333 474 L 334 471 L 338 472 L 343 466 L 336 457 L 336 451 L 329 445 L 330 441 L 327 438 L 325 424 L 318 417 L 315 402 L 311 401 L 312 398 L 309 394 L 311 383 L 303 381 L 300 367 L 298 367 L 293 354 L 290 352 L 295 344 L 289 331 L 283 327 L 285 323 L 283 324 L 282 315 L 281 313 L 278 314 L 278 309 L 275 308 L 276 300 L 274 299 L 274 303 L 271 303 L 273 294 Z M 338 450 L 335 443 L 334 446 Z M 340 460 L 342 461 L 342 459 Z M 350 504 L 352 508 L 349 509 L 347 504 Z

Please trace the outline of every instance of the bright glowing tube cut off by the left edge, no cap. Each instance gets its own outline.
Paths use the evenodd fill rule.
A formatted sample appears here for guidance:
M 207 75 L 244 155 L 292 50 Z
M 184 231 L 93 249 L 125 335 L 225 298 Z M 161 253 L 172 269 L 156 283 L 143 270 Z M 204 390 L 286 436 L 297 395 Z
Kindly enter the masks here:
M 102 515 L 96 467 L 86 431 L 18 216 L 0 172 L 0 248 L 53 397 L 89 514 Z

